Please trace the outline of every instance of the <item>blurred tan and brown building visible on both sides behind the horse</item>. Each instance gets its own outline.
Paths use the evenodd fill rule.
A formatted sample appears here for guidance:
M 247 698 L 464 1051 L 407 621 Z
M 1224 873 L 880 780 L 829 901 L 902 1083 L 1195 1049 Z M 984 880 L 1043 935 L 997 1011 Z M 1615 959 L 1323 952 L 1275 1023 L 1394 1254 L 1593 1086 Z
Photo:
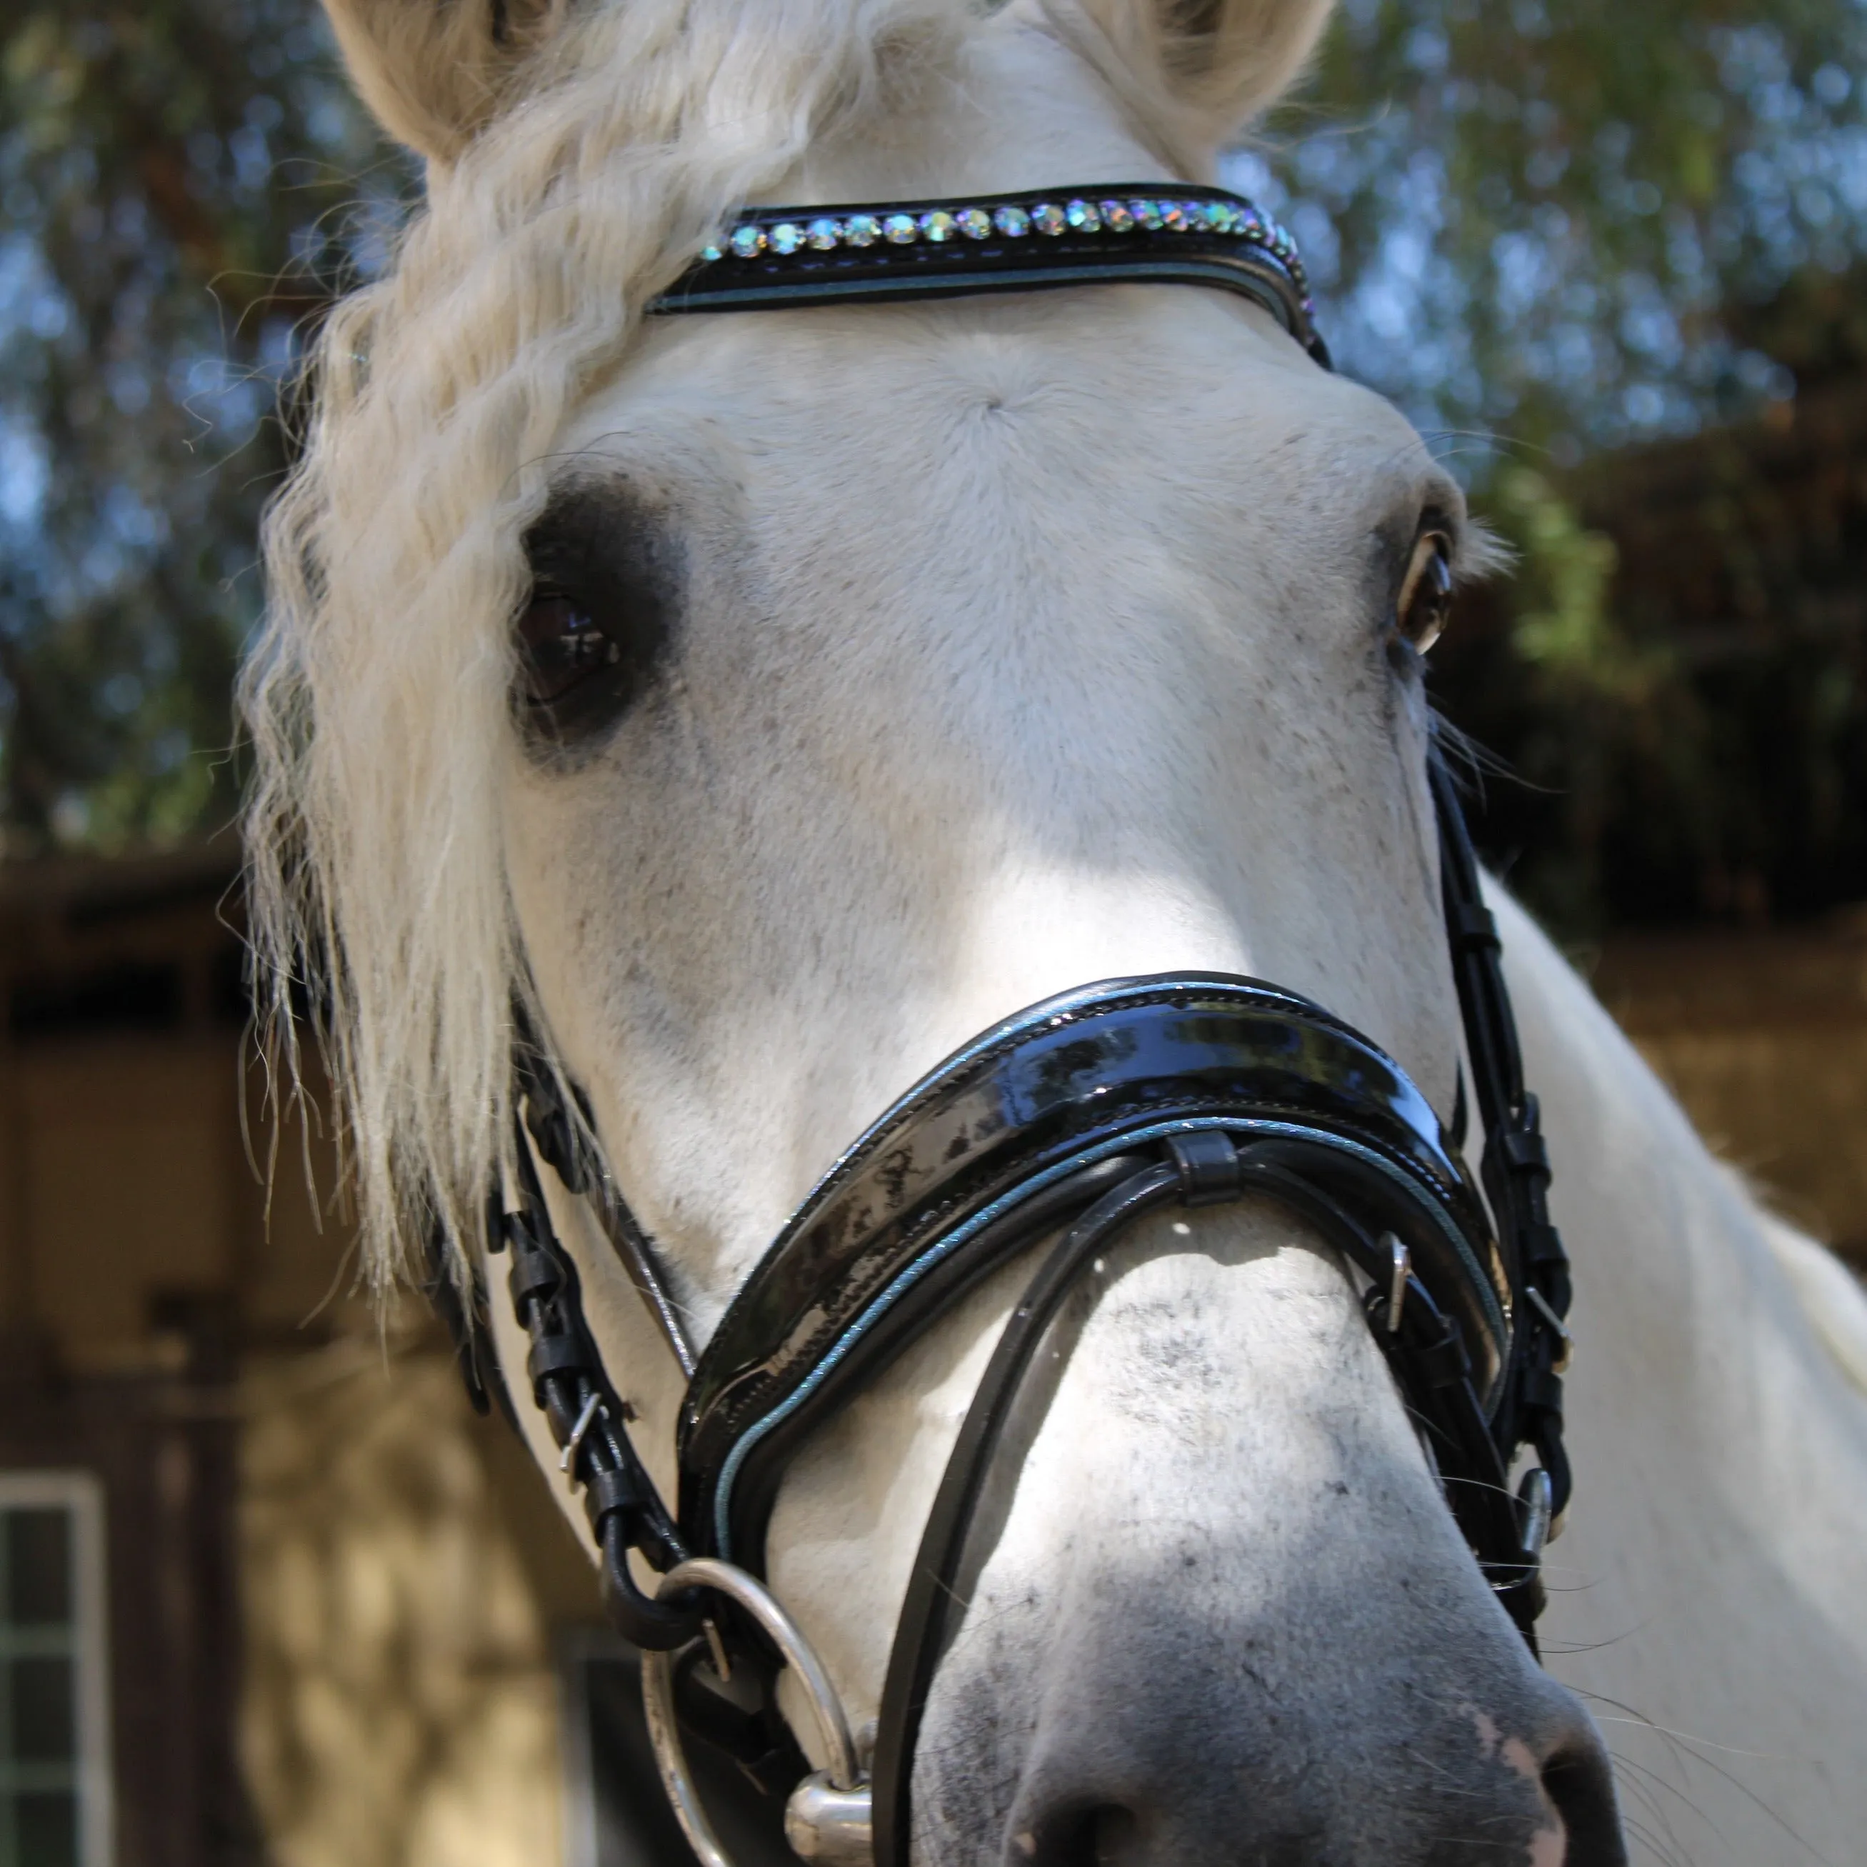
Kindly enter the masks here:
M 530 1456 L 426 1316 L 357 1301 L 297 1161 L 267 1210 L 232 881 L 0 870 L 0 1867 L 670 1867 Z M 1731 1159 L 1867 1242 L 1854 928 L 1628 937 L 1598 984 Z

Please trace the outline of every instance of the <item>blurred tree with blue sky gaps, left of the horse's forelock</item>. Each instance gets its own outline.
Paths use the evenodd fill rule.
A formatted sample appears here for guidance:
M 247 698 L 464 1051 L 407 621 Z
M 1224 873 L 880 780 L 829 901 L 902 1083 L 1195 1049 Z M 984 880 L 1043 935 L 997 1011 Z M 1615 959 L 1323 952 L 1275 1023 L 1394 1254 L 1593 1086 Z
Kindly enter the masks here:
M 0 825 L 166 840 L 235 790 L 293 330 L 405 177 L 304 0 L 22 0 L 0 99 Z

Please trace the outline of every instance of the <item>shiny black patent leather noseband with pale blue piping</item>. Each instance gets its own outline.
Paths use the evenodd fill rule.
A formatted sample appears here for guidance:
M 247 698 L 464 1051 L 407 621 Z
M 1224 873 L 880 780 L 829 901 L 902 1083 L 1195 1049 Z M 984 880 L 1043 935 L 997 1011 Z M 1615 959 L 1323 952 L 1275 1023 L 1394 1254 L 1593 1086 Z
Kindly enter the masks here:
M 1116 1169 L 1208 1128 L 1255 1159 L 1301 1156 L 1365 1230 L 1402 1238 L 1413 1273 L 1458 1322 L 1488 1411 L 1510 1350 L 1505 1270 L 1471 1178 L 1393 1059 L 1262 980 L 1109 980 L 1031 1006 L 948 1057 L 773 1242 L 689 1387 L 691 1546 L 760 1566 L 782 1464 L 827 1411 Z

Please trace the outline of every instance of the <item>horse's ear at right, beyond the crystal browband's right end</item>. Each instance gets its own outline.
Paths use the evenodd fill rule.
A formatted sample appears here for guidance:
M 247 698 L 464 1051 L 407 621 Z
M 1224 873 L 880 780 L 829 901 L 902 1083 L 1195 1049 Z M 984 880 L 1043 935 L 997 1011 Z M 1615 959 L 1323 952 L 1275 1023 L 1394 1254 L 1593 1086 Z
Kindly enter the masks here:
M 1219 147 L 1301 75 L 1335 0 L 1075 0 L 1109 50 Z M 1057 17 L 1064 7 L 1046 0 Z

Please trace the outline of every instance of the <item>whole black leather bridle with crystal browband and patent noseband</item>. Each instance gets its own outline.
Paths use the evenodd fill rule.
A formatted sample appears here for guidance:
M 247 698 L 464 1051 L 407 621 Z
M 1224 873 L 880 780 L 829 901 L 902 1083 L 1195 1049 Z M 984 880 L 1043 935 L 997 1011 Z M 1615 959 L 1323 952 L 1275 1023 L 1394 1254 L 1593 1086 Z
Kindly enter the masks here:
M 1217 286 L 1268 308 L 1324 366 L 1294 243 L 1214 189 L 1102 187 L 874 209 L 760 209 L 709 248 L 657 312 L 782 310 L 1124 280 Z M 1105 980 L 1006 1019 L 930 1072 L 823 1176 L 695 1357 L 652 1243 L 588 1146 L 560 1075 L 521 1018 L 515 1178 L 487 1243 L 530 1339 L 526 1376 L 583 1482 L 616 1628 L 650 1652 L 695 1645 L 687 1706 L 754 1774 L 784 1766 L 782 1727 L 721 1708 L 704 1652 L 765 1652 L 696 1591 L 652 1598 L 655 1572 L 704 1555 L 754 1574 L 795 1449 L 982 1277 L 1055 1238 L 973 1398 L 896 1628 L 874 1759 L 876 1867 L 905 1867 L 913 1746 L 960 1606 L 975 1507 L 1031 1357 L 1083 1264 L 1143 1214 L 1268 1197 L 1335 1245 L 1361 1284 L 1467 1544 L 1535 1649 L 1538 1563 L 1568 1503 L 1561 1370 L 1568 1264 L 1550 1225 L 1550 1163 L 1523 1088 L 1497 930 L 1445 762 L 1430 756 L 1445 930 L 1482 1197 L 1464 1161 L 1464 1088 L 1447 1133 L 1406 1074 L 1322 1006 L 1262 980 Z M 1464 1079 L 1462 1079 L 1464 1083 Z M 541 1161 L 590 1200 L 687 1376 L 680 1499 L 631 1443 L 553 1230 Z M 1486 1210 L 1488 1206 L 1488 1210 Z M 437 1240 L 429 1294 L 484 1411 L 497 1380 L 485 1292 L 467 1296 Z M 508 1402 L 510 1413 L 510 1402 Z M 1510 1473 L 1533 1462 L 1516 1492 Z M 724 1639 L 724 1645 L 723 1645 Z M 769 1663 L 769 1652 L 765 1652 Z

